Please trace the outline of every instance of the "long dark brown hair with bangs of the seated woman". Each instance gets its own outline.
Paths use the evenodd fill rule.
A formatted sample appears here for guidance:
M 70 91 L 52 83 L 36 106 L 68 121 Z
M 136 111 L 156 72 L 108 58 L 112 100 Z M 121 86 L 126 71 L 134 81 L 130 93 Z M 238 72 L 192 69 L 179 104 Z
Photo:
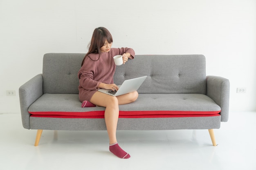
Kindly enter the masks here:
M 92 53 L 94 53 L 94 54 L 101 54 L 100 48 L 104 45 L 106 40 L 108 41 L 108 43 L 112 43 L 113 42 L 112 35 L 108 31 L 108 29 L 104 28 L 104 27 L 95 28 L 95 30 L 94 30 L 94 32 L 92 34 L 92 40 L 88 44 L 89 50 L 86 53 L 85 57 L 83 58 L 83 62 L 84 62 L 85 58 L 89 54 L 92 54 Z M 91 59 L 91 60 L 93 60 L 93 59 Z M 93 60 L 93 61 L 98 61 L 98 60 L 99 59 Z M 83 62 L 81 64 L 81 66 L 83 66 Z

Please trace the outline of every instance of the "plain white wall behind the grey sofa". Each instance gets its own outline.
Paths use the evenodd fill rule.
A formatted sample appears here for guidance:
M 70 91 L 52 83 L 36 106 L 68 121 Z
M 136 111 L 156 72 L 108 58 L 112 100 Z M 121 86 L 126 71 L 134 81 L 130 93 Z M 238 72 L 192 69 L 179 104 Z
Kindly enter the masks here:
M 99 26 L 136 54 L 204 54 L 207 75 L 230 80 L 230 110 L 256 110 L 255 0 L 0 0 L 0 113 L 20 113 L 43 54 L 86 53 Z

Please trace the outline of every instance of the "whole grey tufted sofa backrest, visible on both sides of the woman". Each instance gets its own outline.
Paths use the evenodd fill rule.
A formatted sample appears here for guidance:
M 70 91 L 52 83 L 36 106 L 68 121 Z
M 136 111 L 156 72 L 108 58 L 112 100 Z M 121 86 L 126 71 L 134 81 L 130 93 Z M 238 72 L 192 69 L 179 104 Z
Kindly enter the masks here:
M 78 71 L 85 54 L 48 53 L 43 58 L 43 93 L 78 94 Z M 135 55 L 116 67 L 114 83 L 148 76 L 139 87 L 141 94 L 206 94 L 203 55 Z

